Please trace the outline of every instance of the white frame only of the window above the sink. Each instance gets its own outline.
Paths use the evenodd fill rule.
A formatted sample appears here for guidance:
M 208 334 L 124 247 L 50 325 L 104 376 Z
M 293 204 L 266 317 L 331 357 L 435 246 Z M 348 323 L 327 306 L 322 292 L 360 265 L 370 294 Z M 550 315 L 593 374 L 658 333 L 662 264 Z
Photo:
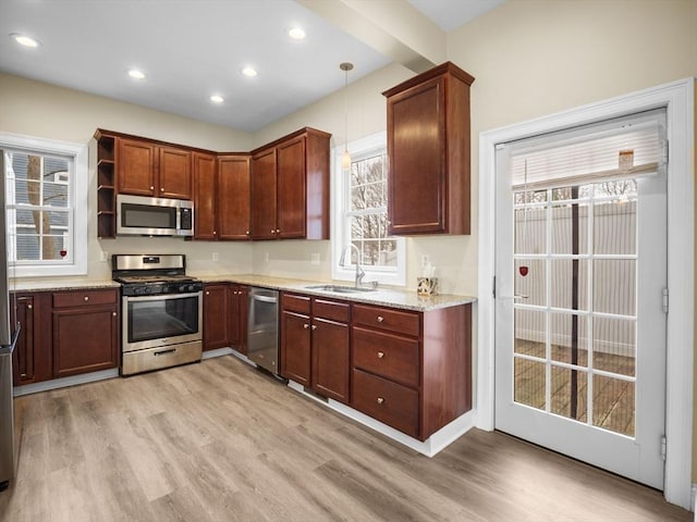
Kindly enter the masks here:
M 350 243 L 351 227 L 346 220 L 350 204 L 351 188 L 350 176 L 344 175 L 341 159 L 346 146 L 337 146 L 332 149 L 332 176 L 331 176 L 331 276 L 338 281 L 355 279 L 355 264 L 340 266 L 339 260 L 345 245 Z M 364 138 L 351 141 L 348 150 L 352 158 L 367 156 L 372 151 L 383 149 L 387 153 L 387 132 L 380 132 Z M 387 210 L 386 210 L 387 211 Z M 403 237 L 390 236 L 396 240 L 396 268 L 375 269 L 370 265 L 360 265 L 365 271 L 364 283 L 378 281 L 380 284 L 392 286 L 406 285 L 406 240 Z

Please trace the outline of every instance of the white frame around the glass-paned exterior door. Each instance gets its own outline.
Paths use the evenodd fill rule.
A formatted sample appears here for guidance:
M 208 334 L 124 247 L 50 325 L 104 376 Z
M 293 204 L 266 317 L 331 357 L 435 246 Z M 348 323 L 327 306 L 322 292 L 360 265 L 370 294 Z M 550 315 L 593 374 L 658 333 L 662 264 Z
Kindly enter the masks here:
M 543 133 L 667 107 L 668 288 L 665 499 L 692 510 L 695 355 L 695 78 L 484 132 L 479 135 L 477 401 L 475 425 L 494 428 L 496 146 Z

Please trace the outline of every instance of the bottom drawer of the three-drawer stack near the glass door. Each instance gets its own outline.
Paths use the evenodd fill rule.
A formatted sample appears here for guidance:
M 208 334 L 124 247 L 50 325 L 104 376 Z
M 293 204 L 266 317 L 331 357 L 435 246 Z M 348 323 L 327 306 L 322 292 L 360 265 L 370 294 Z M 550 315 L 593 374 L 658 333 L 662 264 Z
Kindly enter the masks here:
M 353 371 L 353 407 L 418 437 L 418 393 L 360 370 Z

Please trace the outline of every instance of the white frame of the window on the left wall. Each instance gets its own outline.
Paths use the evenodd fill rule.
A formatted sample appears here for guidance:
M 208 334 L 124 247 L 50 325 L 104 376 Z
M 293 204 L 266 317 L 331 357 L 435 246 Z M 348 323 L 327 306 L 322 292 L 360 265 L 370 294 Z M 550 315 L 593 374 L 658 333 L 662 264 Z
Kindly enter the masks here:
M 37 138 L 16 134 L 0 133 L 0 149 L 9 149 L 22 153 L 36 153 L 41 156 L 59 156 L 68 158 L 72 167 L 72 182 L 69 179 L 69 208 L 72 217 L 72 233 L 70 235 L 71 260 L 62 262 L 37 261 L 36 263 L 11 260 L 14 277 L 40 277 L 61 275 L 87 274 L 87 217 L 88 217 L 88 149 L 86 145 L 59 141 L 53 139 Z M 7 165 L 5 165 L 7 171 Z M 3 176 L 3 196 L 7 199 L 7 172 Z M 7 212 L 7 210 L 5 210 Z M 8 213 L 9 214 L 9 213 Z M 15 226 L 8 215 L 8 231 Z M 8 250 L 13 248 L 9 246 Z

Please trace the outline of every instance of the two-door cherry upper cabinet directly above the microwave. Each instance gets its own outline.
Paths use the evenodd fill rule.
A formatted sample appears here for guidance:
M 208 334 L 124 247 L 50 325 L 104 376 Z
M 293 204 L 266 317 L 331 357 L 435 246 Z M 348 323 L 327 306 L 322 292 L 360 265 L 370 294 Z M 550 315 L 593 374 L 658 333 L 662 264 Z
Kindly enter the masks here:
M 119 192 L 192 199 L 192 154 L 145 139 L 119 139 Z

